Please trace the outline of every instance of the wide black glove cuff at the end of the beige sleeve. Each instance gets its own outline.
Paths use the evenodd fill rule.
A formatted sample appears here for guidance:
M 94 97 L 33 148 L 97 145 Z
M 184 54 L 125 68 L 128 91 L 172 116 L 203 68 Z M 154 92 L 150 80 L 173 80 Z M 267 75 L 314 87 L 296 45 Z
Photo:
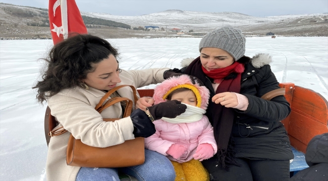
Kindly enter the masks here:
M 149 120 L 149 117 L 141 109 L 134 110 L 130 118 L 133 124 L 134 137 L 147 138 L 156 132 L 155 125 Z

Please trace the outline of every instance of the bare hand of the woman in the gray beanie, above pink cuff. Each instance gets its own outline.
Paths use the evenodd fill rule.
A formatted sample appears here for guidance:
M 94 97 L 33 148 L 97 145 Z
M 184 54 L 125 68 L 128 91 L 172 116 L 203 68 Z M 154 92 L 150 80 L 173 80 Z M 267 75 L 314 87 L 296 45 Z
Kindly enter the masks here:
M 225 92 L 219 93 L 213 96 L 212 102 L 215 104 L 221 104 L 226 108 L 234 108 L 238 106 L 238 99 L 235 93 Z

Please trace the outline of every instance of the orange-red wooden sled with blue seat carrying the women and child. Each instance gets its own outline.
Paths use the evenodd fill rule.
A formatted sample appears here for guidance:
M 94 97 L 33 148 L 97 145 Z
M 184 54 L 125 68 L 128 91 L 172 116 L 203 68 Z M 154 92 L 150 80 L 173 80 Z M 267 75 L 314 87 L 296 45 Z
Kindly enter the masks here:
M 291 105 L 291 114 L 284 120 L 284 124 L 295 155 L 291 163 L 291 171 L 299 171 L 307 166 L 304 158 L 306 146 L 316 135 L 328 132 L 328 102 L 319 93 L 311 89 L 297 86 L 294 83 L 280 83 L 280 87 L 286 89 L 286 99 Z M 140 97 L 152 97 L 154 89 L 138 89 Z M 47 107 L 44 118 L 45 137 L 48 141 L 49 128 L 56 125 Z M 300 155 L 300 156 L 296 156 Z

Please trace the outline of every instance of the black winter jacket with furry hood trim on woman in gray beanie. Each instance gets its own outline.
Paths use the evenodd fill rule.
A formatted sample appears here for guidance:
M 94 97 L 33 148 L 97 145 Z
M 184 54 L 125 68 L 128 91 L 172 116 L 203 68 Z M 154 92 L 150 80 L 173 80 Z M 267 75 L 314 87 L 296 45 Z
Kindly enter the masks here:
M 272 73 L 267 54 L 257 54 L 252 59 L 243 57 L 245 71 L 242 73 L 240 94 L 247 97 L 249 105 L 246 111 L 235 109 L 232 135 L 235 140 L 235 157 L 250 159 L 287 160 L 294 157 L 286 129 L 280 122 L 290 113 L 290 105 L 284 96 L 270 101 L 261 99 L 264 94 L 278 89 L 279 82 Z M 189 60 L 191 61 L 191 60 Z M 186 63 L 186 62 L 185 62 Z M 190 62 L 189 62 L 190 63 Z M 186 68 L 186 67 L 185 67 Z M 182 68 L 183 72 L 185 68 Z M 203 72 L 199 72 L 203 73 Z M 197 77 L 197 75 L 194 75 Z M 228 75 L 229 76 L 229 75 Z M 199 77 L 198 77 L 199 78 Z M 215 95 L 212 80 L 202 80 L 210 90 L 210 99 Z M 206 112 L 213 123 L 211 101 Z

